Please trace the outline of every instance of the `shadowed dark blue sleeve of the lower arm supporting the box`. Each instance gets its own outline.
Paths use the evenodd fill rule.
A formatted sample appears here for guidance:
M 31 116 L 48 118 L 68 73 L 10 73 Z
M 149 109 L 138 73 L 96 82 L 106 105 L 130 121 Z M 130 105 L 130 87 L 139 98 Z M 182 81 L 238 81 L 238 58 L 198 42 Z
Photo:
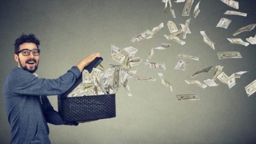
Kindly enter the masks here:
M 46 122 L 54 125 L 78 125 L 77 122 L 65 122 L 57 111 L 52 108 L 47 96 L 42 96 L 42 111 Z

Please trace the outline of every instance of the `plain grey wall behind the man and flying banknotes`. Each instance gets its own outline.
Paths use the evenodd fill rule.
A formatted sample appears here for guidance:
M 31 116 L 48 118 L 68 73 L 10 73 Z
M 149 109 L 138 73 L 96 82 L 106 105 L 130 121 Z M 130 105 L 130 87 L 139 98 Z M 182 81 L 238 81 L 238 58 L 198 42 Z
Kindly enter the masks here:
M 164 51 L 155 51 L 152 61 L 164 62 L 167 70 L 153 70 L 143 64 L 133 67 L 138 75 L 156 77 L 157 81 L 129 81 L 132 97 L 124 88 L 116 93 L 116 118 L 98 120 L 78 127 L 49 124 L 52 143 L 255 143 L 256 94 L 247 97 L 244 86 L 256 79 L 255 45 L 232 45 L 227 38 L 248 24 L 255 23 L 256 3 L 253 0 L 239 1 L 240 12 L 247 17 L 223 15 L 226 10 L 235 10 L 217 0 L 202 0 L 198 17 L 191 10 L 186 44 L 179 45 L 166 40 L 168 20 L 177 25 L 189 17 L 182 17 L 185 3 L 173 3 L 177 19 L 170 12 L 164 14 L 161 0 L 140 1 L 1 1 L 0 4 L 0 86 L 11 68 L 13 43 L 20 33 L 35 33 L 40 38 L 42 53 L 37 74 L 40 77 L 57 78 L 67 72 L 88 54 L 100 52 L 102 64 L 115 63 L 110 57 L 111 44 L 117 47 L 136 47 L 136 56 L 146 60 L 152 47 L 162 43 L 172 46 Z M 228 29 L 216 28 L 226 17 L 232 22 Z M 153 38 L 132 43 L 131 38 L 164 22 Z M 214 51 L 203 41 L 200 31 L 205 31 L 215 43 Z M 241 33 L 236 38 L 254 36 L 255 30 Z M 239 51 L 243 59 L 218 60 L 217 52 Z M 198 56 L 199 61 L 189 61 L 185 72 L 174 70 L 177 54 Z M 217 81 L 218 87 L 205 89 L 189 86 L 184 82 L 204 67 L 223 65 L 230 76 L 241 70 L 250 71 L 236 85 L 228 86 Z M 157 76 L 163 72 L 173 85 L 173 92 L 165 88 Z M 214 68 L 195 77 L 201 82 L 212 77 Z M 196 93 L 198 101 L 180 101 L 177 94 Z M 10 143 L 10 125 L 4 109 L 3 93 L 0 94 L 0 143 Z M 56 96 L 49 97 L 57 109 Z

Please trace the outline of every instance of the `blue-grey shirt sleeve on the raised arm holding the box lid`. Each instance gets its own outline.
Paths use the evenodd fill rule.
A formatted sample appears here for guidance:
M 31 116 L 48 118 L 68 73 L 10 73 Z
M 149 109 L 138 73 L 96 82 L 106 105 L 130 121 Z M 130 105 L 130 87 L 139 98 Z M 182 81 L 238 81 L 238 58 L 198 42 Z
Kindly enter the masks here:
M 16 95 L 61 95 L 80 75 L 81 72 L 76 66 L 58 79 L 38 78 L 22 68 L 17 68 L 12 72 L 8 84 Z

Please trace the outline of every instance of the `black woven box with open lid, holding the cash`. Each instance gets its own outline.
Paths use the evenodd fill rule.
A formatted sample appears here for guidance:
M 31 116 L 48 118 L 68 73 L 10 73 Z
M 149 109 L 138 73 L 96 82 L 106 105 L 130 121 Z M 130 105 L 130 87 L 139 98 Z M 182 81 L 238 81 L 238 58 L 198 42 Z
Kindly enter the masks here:
M 84 69 L 92 72 L 102 58 L 96 58 Z M 83 81 L 82 74 L 76 83 L 63 95 L 58 95 L 58 113 L 66 122 L 79 120 L 97 120 L 116 116 L 115 94 L 67 97 Z

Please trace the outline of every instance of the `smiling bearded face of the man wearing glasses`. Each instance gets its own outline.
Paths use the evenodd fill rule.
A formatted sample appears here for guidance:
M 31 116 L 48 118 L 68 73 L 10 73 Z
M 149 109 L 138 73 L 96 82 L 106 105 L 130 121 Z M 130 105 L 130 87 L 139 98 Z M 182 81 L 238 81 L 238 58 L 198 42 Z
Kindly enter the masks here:
M 33 49 L 37 49 L 37 47 L 34 43 L 26 42 L 20 45 L 19 51 L 22 49 L 33 50 Z M 14 54 L 14 59 L 19 63 L 19 66 L 21 68 L 23 68 L 24 70 L 27 70 L 28 72 L 33 73 L 38 68 L 39 55 L 34 56 L 32 51 L 30 51 L 30 54 L 28 56 L 23 56 L 22 52 L 20 52 L 19 54 Z

